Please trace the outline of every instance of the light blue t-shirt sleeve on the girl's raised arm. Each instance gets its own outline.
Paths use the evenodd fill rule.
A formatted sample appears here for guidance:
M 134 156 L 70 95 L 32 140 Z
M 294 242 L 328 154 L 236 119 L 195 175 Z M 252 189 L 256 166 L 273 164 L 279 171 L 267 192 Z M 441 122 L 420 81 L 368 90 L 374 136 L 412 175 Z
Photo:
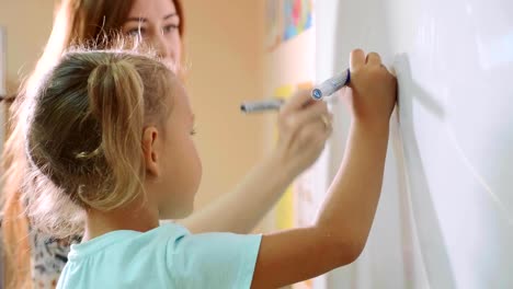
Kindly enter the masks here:
M 249 289 L 261 239 L 205 233 L 169 241 L 167 262 L 175 288 Z

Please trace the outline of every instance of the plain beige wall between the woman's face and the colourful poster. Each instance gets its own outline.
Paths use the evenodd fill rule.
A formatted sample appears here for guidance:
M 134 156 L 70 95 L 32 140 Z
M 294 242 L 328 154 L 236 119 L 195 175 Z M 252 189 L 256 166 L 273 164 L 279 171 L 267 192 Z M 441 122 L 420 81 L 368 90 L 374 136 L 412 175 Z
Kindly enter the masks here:
M 263 97 L 263 3 L 182 2 L 190 66 L 186 89 L 204 169 L 198 210 L 233 189 L 263 155 L 262 117 L 248 117 L 239 109 L 244 100 Z

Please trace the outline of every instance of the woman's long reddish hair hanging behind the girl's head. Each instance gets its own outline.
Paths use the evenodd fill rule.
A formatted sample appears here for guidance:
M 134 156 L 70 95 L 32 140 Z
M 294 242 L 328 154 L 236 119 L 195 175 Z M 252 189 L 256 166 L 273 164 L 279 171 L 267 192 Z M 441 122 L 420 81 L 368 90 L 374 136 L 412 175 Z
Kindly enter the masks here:
M 179 32 L 183 39 L 185 18 L 182 1 L 170 1 L 174 3 L 176 9 L 180 19 Z M 25 129 L 23 127 L 25 122 L 19 122 L 19 119 L 23 119 L 19 115 L 20 107 L 26 94 L 31 94 L 37 86 L 42 74 L 55 65 L 66 49 L 72 45 L 95 41 L 105 33 L 118 32 L 128 16 L 134 0 L 61 0 L 58 2 L 60 4 L 54 20 L 52 35 L 43 55 L 10 107 L 10 134 L 1 160 L 3 187 L 0 195 L 3 203 L 2 253 L 5 265 L 5 284 L 9 288 L 31 287 L 29 222 L 25 216 L 25 204 L 22 203 L 20 194 L 22 176 L 27 166 L 21 132 Z

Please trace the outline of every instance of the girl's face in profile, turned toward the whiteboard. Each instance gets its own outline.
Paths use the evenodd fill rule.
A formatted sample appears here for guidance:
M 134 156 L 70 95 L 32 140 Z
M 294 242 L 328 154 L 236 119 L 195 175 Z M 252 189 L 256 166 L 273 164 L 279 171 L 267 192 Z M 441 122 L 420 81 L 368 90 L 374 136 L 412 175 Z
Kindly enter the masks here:
M 183 85 L 171 78 L 168 96 L 171 113 L 161 128 L 157 152 L 160 155 L 157 178 L 157 206 L 160 218 L 181 219 L 194 208 L 194 196 L 202 178 L 202 163 L 193 141 L 194 114 Z

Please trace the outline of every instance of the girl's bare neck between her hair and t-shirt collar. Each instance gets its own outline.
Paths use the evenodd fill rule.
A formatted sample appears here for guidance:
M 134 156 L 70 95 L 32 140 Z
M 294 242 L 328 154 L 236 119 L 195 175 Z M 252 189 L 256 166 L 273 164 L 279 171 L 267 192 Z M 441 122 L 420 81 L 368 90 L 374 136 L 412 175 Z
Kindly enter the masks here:
M 146 232 L 159 227 L 158 210 L 152 210 L 149 207 L 139 203 L 107 212 L 90 209 L 87 213 L 82 242 L 112 231 L 132 230 Z

